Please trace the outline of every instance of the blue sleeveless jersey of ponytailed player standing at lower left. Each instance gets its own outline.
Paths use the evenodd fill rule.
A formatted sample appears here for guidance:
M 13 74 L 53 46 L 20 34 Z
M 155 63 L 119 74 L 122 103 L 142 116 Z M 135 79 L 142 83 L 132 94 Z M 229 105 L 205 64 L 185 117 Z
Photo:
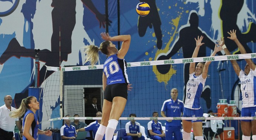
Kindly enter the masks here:
M 33 111 L 27 110 L 27 112 L 26 112 L 25 115 L 24 115 L 24 119 L 23 119 L 23 122 L 22 122 L 22 124 L 23 124 L 22 127 L 24 127 L 26 117 L 27 117 L 27 115 L 28 115 L 29 113 L 32 113 L 32 114 L 34 115 L 34 120 L 33 120 L 32 124 L 31 124 L 30 129 L 29 129 L 29 134 L 30 134 L 34 139 L 38 140 L 38 138 L 37 138 L 38 133 L 37 133 L 37 132 L 38 132 L 38 127 L 39 127 L 39 122 L 38 122 L 38 119 L 37 119 L 37 117 L 36 117 L 36 115 L 35 115 L 35 113 L 34 113 Z M 24 129 L 24 128 L 23 128 L 23 129 Z M 23 136 L 23 137 L 22 137 L 22 140 L 27 140 L 27 138 Z

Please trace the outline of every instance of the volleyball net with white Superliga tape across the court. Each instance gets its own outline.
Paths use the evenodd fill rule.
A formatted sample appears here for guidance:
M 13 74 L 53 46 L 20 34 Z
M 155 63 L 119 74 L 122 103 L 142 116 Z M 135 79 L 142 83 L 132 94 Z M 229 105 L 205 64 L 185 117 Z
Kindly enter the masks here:
M 246 64 L 244 59 L 254 60 L 255 57 L 256 53 L 248 53 L 127 63 L 127 74 L 133 88 L 132 91 L 128 91 L 127 104 L 120 120 L 134 119 L 129 117 L 131 113 L 137 115 L 136 120 L 156 119 L 152 117 L 152 112 L 159 113 L 158 120 L 256 119 L 256 117 L 239 117 L 242 109 L 241 83 L 229 61 L 237 60 L 239 67 L 243 70 Z M 188 80 L 186 70 L 189 64 L 206 61 L 211 61 L 211 64 L 200 98 L 200 105 L 204 113 L 212 110 L 216 117 L 161 118 L 163 102 L 171 98 L 172 88 L 177 88 L 178 99 L 184 100 L 186 95 L 184 88 L 187 84 L 185 81 Z M 102 69 L 103 65 L 65 66 L 61 70 L 59 67 L 47 66 L 46 72 L 54 72 L 45 79 L 41 86 L 44 114 L 42 122 L 59 119 L 100 119 L 86 109 L 87 106 L 92 105 L 92 98 L 95 97 L 97 104 L 102 105 Z M 61 89 L 62 92 L 60 92 Z M 60 110 L 63 113 L 60 113 Z M 74 114 L 80 117 L 64 117 Z

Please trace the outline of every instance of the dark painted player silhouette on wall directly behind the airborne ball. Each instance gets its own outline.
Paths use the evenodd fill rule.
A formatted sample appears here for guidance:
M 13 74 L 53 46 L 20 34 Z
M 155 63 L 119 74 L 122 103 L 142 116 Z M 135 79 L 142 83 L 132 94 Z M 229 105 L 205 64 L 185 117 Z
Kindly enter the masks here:
M 150 13 L 145 17 L 139 17 L 138 20 L 138 32 L 142 37 L 145 35 L 147 28 L 152 26 L 154 27 L 155 37 L 157 38 L 157 48 L 162 48 L 162 31 L 161 31 L 161 20 L 158 14 L 157 5 L 155 4 L 155 0 L 140 0 L 141 2 L 145 2 L 150 6 Z

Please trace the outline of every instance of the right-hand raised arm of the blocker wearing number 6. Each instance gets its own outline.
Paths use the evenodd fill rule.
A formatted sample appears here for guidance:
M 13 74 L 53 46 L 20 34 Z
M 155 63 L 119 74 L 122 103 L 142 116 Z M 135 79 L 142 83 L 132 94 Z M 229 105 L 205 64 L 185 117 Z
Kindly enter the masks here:
M 233 40 L 233 41 L 236 43 L 236 45 L 238 46 L 240 52 L 241 52 L 242 54 L 245 54 L 245 53 L 246 53 L 246 50 L 244 49 L 243 45 L 240 43 L 240 41 L 239 41 L 239 40 L 237 39 L 237 37 L 236 37 L 236 30 L 233 29 L 233 31 L 230 30 L 230 32 L 227 32 L 227 33 L 230 35 L 230 37 L 227 37 L 227 38 Z M 244 60 L 246 61 L 246 63 L 247 63 L 248 66 L 250 67 L 250 69 L 255 70 L 255 67 L 256 67 L 256 66 L 255 66 L 255 64 L 253 63 L 252 59 L 244 59 Z

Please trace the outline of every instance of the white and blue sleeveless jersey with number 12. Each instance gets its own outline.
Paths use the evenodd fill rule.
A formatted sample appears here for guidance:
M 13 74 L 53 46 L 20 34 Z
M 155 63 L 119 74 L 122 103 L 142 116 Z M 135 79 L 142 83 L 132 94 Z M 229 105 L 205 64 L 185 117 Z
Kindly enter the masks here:
M 189 109 L 200 109 L 200 96 L 202 94 L 206 78 L 203 79 L 202 74 L 196 76 L 195 73 L 189 74 L 187 83 L 186 100 L 184 107 Z

